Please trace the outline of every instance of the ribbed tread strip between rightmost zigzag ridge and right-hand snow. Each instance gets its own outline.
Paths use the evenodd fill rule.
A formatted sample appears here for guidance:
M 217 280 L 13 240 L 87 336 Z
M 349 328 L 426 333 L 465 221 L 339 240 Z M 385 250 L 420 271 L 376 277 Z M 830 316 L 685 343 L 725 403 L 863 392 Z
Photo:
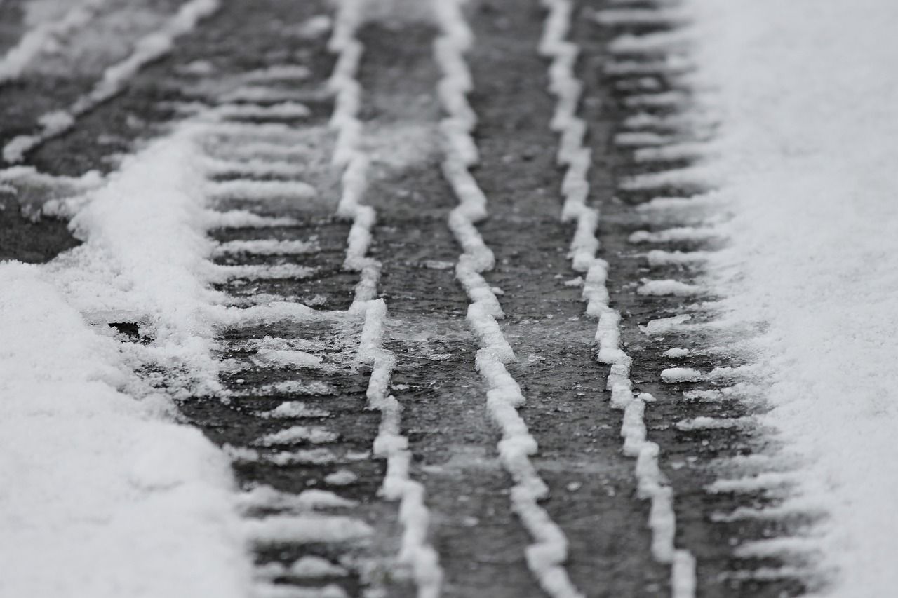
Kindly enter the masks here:
M 606 137 L 615 180 L 602 182 L 621 198 L 606 206 L 604 251 L 612 283 L 640 280 L 610 286 L 611 299 L 624 314 L 631 376 L 656 399 L 646 424 L 678 488 L 678 541 L 697 558 L 700 595 L 804 594 L 813 555 L 801 536 L 818 515 L 789 506 L 796 465 L 753 423 L 764 409 L 753 330 L 731 330 L 702 283 L 725 236 L 726 201 L 700 165 L 715 123 L 691 89 L 688 21 L 647 3 L 600 10 L 594 22 L 600 46 L 595 25 L 577 38 L 594 52 L 587 89 L 610 111 L 595 118 L 616 120 Z

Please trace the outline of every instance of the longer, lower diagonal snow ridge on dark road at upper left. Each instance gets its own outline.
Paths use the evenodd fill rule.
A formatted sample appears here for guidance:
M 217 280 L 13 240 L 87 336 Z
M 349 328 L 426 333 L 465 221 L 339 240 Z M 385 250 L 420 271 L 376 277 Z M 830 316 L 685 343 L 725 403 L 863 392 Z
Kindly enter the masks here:
M 121 92 L 128 79 L 150 62 L 171 51 L 175 38 L 193 30 L 200 19 L 215 13 L 220 4 L 220 0 L 189 0 L 182 4 L 161 29 L 137 40 L 130 56 L 103 71 L 100 81 L 93 86 L 91 92 L 78 98 L 66 110 L 48 112 L 40 117 L 40 132 L 13 137 L 12 141 L 4 145 L 4 160 L 9 163 L 22 162 L 25 154 L 32 149 L 74 127 L 79 117 Z

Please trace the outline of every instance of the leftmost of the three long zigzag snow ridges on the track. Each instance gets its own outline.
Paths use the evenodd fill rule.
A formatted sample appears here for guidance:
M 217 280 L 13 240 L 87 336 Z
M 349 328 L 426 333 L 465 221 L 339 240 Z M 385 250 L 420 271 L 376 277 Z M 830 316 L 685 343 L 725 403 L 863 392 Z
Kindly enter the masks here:
M 375 298 L 381 263 L 365 255 L 371 243 L 371 227 L 376 213 L 373 207 L 360 203 L 365 194 L 368 169 L 368 158 L 358 149 L 362 123 L 357 117 L 361 86 L 356 74 L 364 47 L 356 39 L 356 32 L 362 22 L 361 8 L 360 0 L 341 0 L 329 42 L 330 51 L 338 54 L 329 81 L 330 90 L 336 93 L 330 118 L 330 126 L 337 130 L 333 163 L 344 169 L 337 212 L 338 215 L 352 218 L 344 268 L 361 272 L 349 311 L 365 313 L 357 359 L 359 363 L 373 368 L 366 396 L 368 407 L 381 412 L 380 428 L 374 439 L 374 454 L 387 460 L 383 496 L 387 500 L 400 501 L 403 532 L 398 561 L 411 568 L 418 586 L 418 598 L 437 598 L 443 583 L 443 570 L 439 565 L 439 555 L 427 543 L 430 514 L 424 503 L 424 486 L 409 479 L 411 453 L 409 439 L 401 435 L 402 406 L 390 394 L 390 378 L 396 356 L 383 347 L 387 306 L 383 299 Z

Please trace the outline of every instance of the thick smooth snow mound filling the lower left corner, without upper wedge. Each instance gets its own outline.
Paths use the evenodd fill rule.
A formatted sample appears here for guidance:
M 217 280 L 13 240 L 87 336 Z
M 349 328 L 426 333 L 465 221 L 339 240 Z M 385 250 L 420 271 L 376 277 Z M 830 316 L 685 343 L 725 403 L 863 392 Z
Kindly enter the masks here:
M 0 595 L 246 595 L 227 459 L 116 390 L 119 343 L 50 277 L 0 265 Z

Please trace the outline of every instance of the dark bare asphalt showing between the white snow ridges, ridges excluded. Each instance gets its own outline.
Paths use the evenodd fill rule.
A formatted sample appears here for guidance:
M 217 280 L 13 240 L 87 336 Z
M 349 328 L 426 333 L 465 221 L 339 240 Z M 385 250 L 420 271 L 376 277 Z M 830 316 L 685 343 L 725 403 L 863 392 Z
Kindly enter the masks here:
M 22 28 L 11 24 L 22 18 L 20 4 L 0 7 L 0 49 L 21 34 Z M 438 28 L 429 11 L 414 3 L 372 6 L 374 18 L 357 31 L 365 47 L 357 71 L 362 89 L 358 117 L 364 124 L 362 146 L 372 160 L 364 203 L 377 214 L 368 253 L 382 264 L 378 296 L 389 310 L 383 344 L 396 356 L 391 388 L 404 408 L 402 432 L 413 456 L 409 476 L 426 490 L 428 540 L 445 574 L 442 595 L 542 596 L 525 557 L 532 540 L 510 506 L 513 482 L 497 459 L 499 436 L 474 363 L 477 340 L 465 320 L 468 297 L 454 276 L 462 250 L 447 225 L 456 198 L 440 172 L 443 113 L 436 87 L 441 73 L 433 57 Z M 647 10 L 653 6 L 638 4 Z M 647 409 L 647 428 L 661 446 L 661 467 L 674 489 L 676 545 L 697 558 L 696 595 L 801 594 L 802 582 L 770 573 L 781 570 L 778 559 L 740 556 L 738 547 L 809 522 L 726 516 L 739 507 L 775 504 L 777 488 L 707 489 L 717 479 L 752 472 L 748 465 L 738 467 L 733 457 L 770 448 L 763 432 L 745 419 L 762 403 L 739 396 L 687 400 L 682 394 L 726 388 L 735 380 L 671 384 L 661 378 L 665 368 L 674 366 L 707 372 L 741 363 L 703 352 L 714 343 L 710 333 L 677 329 L 647 335 L 639 328 L 681 313 L 693 322 L 711 320 L 712 312 L 690 305 L 713 297 L 638 293 L 644 278 L 691 282 L 700 276 L 695 266 L 650 267 L 646 248 L 630 237 L 681 224 L 639 211 L 638 204 L 658 196 L 687 197 L 693 189 L 618 189 L 621 180 L 647 171 L 633 161 L 632 147 L 613 142 L 628 130 L 624 120 L 637 113 L 675 112 L 668 107 L 634 110 L 628 98 L 676 89 L 676 82 L 664 74 L 610 75 L 607 66 L 621 57 L 609 54 L 608 42 L 621 33 L 652 29 L 600 25 L 593 16 L 601 9 L 598 1 L 577 5 L 570 34 L 581 50 L 580 113 L 593 152 L 589 202 L 601 209 L 600 257 L 609 264 L 611 304 L 623 316 L 631 378 L 637 391 L 656 400 Z M 555 99 L 547 91 L 548 61 L 536 51 L 545 12 L 535 0 L 483 0 L 465 10 L 476 40 L 467 54 L 474 79 L 468 97 L 479 118 L 474 136 L 480 163 L 472 174 L 489 202 L 489 220 L 479 224 L 480 233 L 496 256 L 495 268 L 484 277 L 506 314 L 499 326 L 517 356 L 509 374 L 524 392 L 520 414 L 540 447 L 532 461 L 549 487 L 541 505 L 567 537 L 566 568 L 580 592 L 591 598 L 670 595 L 670 567 L 652 558 L 649 504 L 636 496 L 635 462 L 621 452 L 621 412 L 609 405 L 607 367 L 595 358 L 595 322 L 584 315 L 582 280 L 568 259 L 574 227 L 559 219 L 564 172 L 556 166 L 559 139 L 549 127 Z M 228 194 L 217 209 L 294 221 L 227 227 L 210 235 L 223 247 L 247 241 L 304 243 L 304 251 L 221 251 L 215 258 L 221 265 L 258 268 L 244 268 L 244 274 L 219 288 L 234 305 L 302 303 L 322 317 L 272 317 L 223 330 L 218 356 L 225 364 L 224 391 L 180 400 L 180 409 L 186 420 L 231 451 L 243 489 L 274 488 L 286 501 L 313 496 L 302 494 L 310 489 L 345 499 L 316 506 L 308 515 L 319 523 L 345 523 L 342 536 L 317 538 L 310 532 L 305 539 L 273 540 L 277 534 L 260 534 L 256 558 L 260 579 L 273 584 L 269 591 L 293 587 L 318 588 L 320 594 L 314 595 L 410 596 L 416 594 L 414 580 L 393 562 L 402 532 L 397 506 L 383 498 L 385 466 L 372 457 L 380 415 L 365 408 L 371 368 L 356 359 L 363 321 L 348 312 L 359 274 L 344 268 L 351 222 L 336 216 L 339 170 L 330 163 L 335 135 L 328 120 L 334 105 L 326 80 L 335 57 L 327 48 L 329 32 L 314 20 L 331 13 L 323 2 L 225 3 L 178 40 L 171 54 L 146 66 L 124 92 L 84 115 L 66 135 L 41 145 L 25 164 L 56 177 L 106 172 L 114 169 L 117 154 L 137 145 L 136 136 L 161 135 L 191 112 L 264 108 L 285 99 L 309 109 L 301 118 L 232 117 L 229 122 L 245 127 L 222 128 L 207 139 L 210 158 L 295 166 L 289 172 L 232 166 L 214 180 L 301 180 L 316 191 L 310 198 L 287 193 L 264 203 L 239 192 Z M 267 99 L 245 92 L 246 75 L 284 65 L 304 66 L 308 73 L 256 85 L 269 93 Z M 74 101 L 89 89 L 99 66 L 75 75 L 58 71 L 26 74 L 0 88 L 0 143 L 33 130 L 40 114 Z M 270 125 L 293 133 L 272 132 L 266 128 Z M 257 154 L 242 151 L 250 144 L 258 145 Z M 33 215 L 35 204 L 65 195 L 66 184 L 59 178 L 43 185 L 20 182 L 17 194 L 0 187 L 0 258 L 46 261 L 75 245 L 64 222 L 29 219 L 20 210 Z M 664 249 L 712 250 L 713 244 L 684 242 Z M 269 267 L 307 269 L 278 275 Z M 260 268 L 269 268 L 268 274 L 260 274 Z M 691 356 L 665 357 L 671 347 L 690 348 Z M 292 351 L 293 361 L 272 360 L 266 353 L 271 350 Z M 298 353 L 310 361 L 297 361 Z M 290 406 L 295 409 L 286 409 Z M 278 408 L 285 409 L 285 417 L 272 417 Z M 738 423 L 718 429 L 677 425 L 699 417 Z M 296 425 L 321 435 L 269 444 L 260 440 Z M 294 507 L 275 503 L 250 505 L 247 517 L 263 521 L 281 512 L 296 515 Z M 298 558 L 309 556 L 325 558 L 335 568 L 315 577 L 288 571 Z

